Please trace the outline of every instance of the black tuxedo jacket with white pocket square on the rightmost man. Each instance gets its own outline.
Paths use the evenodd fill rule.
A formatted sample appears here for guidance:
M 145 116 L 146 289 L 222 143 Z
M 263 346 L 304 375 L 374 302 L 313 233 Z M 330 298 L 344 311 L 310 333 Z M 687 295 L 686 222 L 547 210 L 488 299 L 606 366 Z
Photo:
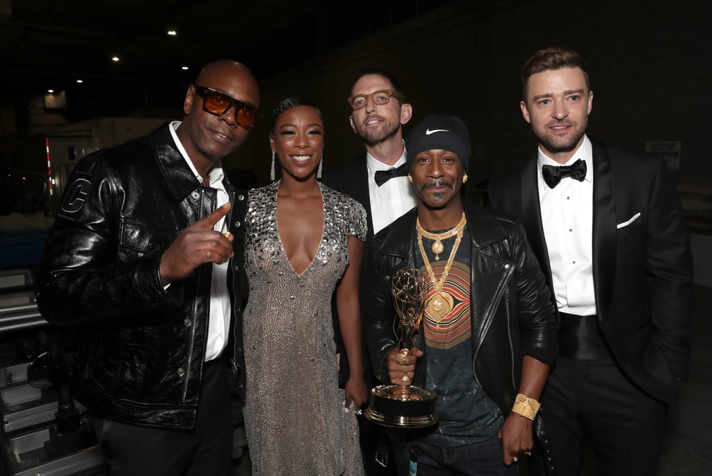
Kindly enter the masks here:
M 597 320 L 625 374 L 672 403 L 690 354 L 692 258 L 679 196 L 663 159 L 591 142 Z M 521 218 L 554 296 L 536 167 L 535 155 L 491 179 L 488 203 Z

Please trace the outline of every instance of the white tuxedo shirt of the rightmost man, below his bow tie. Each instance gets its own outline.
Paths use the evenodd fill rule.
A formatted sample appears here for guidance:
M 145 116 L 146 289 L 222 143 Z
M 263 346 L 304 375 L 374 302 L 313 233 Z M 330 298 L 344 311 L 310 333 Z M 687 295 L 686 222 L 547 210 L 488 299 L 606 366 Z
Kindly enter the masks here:
M 544 181 L 543 165 L 586 162 L 586 178 L 565 177 L 553 189 Z M 566 164 L 547 157 L 541 149 L 537 166 L 541 220 L 549 252 L 556 304 L 560 312 L 577 315 L 596 313 L 593 284 L 593 152 L 584 137 Z

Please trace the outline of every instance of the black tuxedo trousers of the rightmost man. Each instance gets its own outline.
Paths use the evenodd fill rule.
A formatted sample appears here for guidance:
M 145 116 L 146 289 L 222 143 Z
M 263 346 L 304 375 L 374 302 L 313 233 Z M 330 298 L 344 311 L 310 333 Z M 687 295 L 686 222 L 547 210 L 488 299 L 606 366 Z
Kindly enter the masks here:
M 548 454 L 535 447 L 530 475 L 579 475 L 587 445 L 596 475 L 656 475 L 667 406 L 635 386 L 614 359 L 559 356 L 540 403 Z

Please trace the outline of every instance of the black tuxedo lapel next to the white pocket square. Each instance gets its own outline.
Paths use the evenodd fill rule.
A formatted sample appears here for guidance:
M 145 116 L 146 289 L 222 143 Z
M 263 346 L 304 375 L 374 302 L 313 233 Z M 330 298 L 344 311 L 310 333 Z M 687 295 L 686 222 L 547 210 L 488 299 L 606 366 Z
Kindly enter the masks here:
M 598 319 L 608 315 L 616 267 L 616 207 L 611 159 L 600 142 L 593 145 L 593 279 Z

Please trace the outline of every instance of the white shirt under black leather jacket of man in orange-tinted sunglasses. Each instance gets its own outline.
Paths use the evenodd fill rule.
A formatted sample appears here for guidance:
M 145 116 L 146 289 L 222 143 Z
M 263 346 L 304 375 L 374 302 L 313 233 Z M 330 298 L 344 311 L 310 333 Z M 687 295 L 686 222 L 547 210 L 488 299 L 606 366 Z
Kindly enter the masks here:
M 175 129 L 180 125 L 180 121 L 173 121 L 169 127 L 173 140 L 176 143 L 176 147 L 182 154 L 185 162 L 188 164 L 190 169 L 195 174 L 195 179 L 202 183 L 203 177 L 198 174 L 195 169 L 193 162 L 188 157 L 183 144 L 181 144 Z M 228 202 L 229 196 L 223 185 L 222 181 L 224 179 L 224 171 L 220 162 L 215 164 L 215 166 L 208 172 L 208 180 L 210 186 L 217 190 L 217 203 L 216 207 L 219 208 Z M 220 220 L 215 223 L 213 228 L 215 231 L 225 233 L 227 231 L 227 226 L 225 223 L 225 217 L 220 218 Z M 208 343 L 205 349 L 205 361 L 210 361 L 220 356 L 223 349 L 227 345 L 227 336 L 230 326 L 230 296 L 227 290 L 227 266 L 228 263 L 215 264 L 213 263 L 213 273 L 212 282 L 210 285 L 210 302 L 209 302 L 209 316 L 208 316 Z

